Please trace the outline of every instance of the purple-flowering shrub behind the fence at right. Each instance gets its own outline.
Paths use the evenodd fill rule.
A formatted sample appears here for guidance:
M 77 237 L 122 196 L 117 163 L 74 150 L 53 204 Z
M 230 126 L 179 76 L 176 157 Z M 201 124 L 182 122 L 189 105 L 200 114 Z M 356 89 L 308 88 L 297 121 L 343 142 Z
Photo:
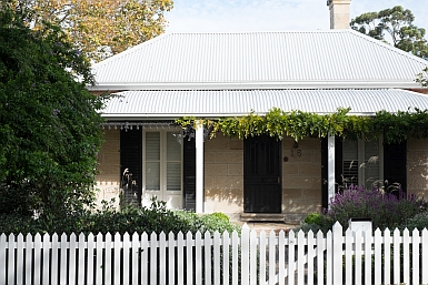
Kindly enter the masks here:
M 351 217 L 369 217 L 372 228 L 385 230 L 400 226 L 406 220 L 425 208 L 424 200 L 415 195 L 406 195 L 401 190 L 398 194 L 384 193 L 377 187 L 365 189 L 350 185 L 342 193 L 337 193 L 327 212 L 332 221 L 344 227 Z

